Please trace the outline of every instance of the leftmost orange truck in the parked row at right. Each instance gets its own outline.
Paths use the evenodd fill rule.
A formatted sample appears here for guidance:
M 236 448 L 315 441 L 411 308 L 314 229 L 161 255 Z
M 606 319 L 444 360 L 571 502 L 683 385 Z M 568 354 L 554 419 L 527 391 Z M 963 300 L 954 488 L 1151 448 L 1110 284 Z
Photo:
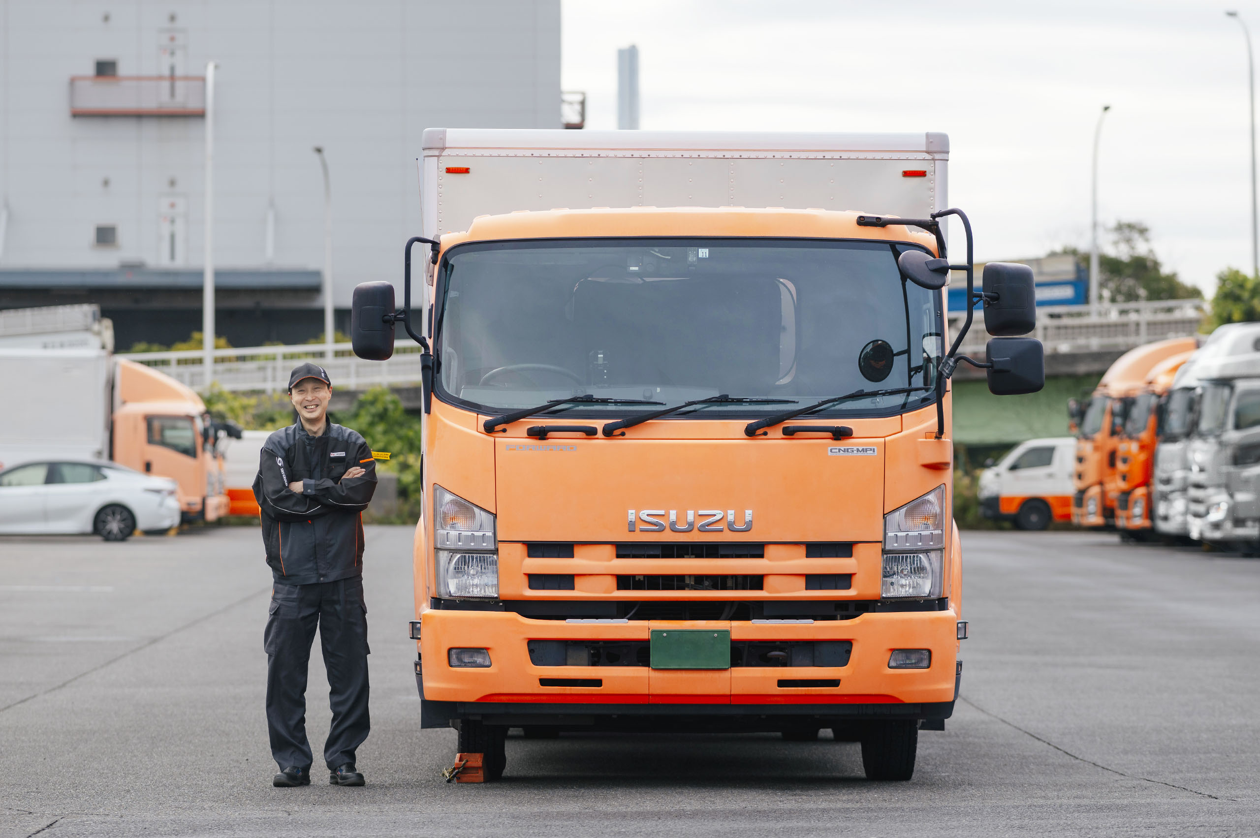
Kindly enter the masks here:
M 1129 411 L 1138 396 L 1148 392 L 1147 377 L 1157 364 L 1193 352 L 1196 345 L 1194 338 L 1171 338 L 1130 349 L 1102 374 L 1087 402 L 1075 408 L 1074 524 L 1115 525 L 1116 503 L 1128 490 L 1120 481 L 1118 457 Z M 1149 512 L 1143 514 L 1149 520 Z

